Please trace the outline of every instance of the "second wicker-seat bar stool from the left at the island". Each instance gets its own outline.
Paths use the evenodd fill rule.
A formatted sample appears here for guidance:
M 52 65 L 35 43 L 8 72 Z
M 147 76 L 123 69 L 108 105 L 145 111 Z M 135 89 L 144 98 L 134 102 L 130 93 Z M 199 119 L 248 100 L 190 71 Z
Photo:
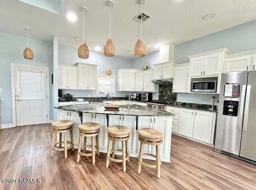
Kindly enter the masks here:
M 82 123 L 81 125 L 79 125 L 77 162 L 79 162 L 80 156 L 92 156 L 92 164 L 95 164 L 95 154 L 98 154 L 98 156 L 100 156 L 99 133 L 100 124 L 98 123 Z M 82 137 L 84 137 L 84 146 L 81 145 Z M 92 137 L 92 144 L 86 144 L 87 137 Z M 96 137 L 96 145 L 94 137 Z M 86 153 L 86 147 L 92 147 L 92 152 Z M 83 148 L 83 152 L 81 152 L 81 148 Z

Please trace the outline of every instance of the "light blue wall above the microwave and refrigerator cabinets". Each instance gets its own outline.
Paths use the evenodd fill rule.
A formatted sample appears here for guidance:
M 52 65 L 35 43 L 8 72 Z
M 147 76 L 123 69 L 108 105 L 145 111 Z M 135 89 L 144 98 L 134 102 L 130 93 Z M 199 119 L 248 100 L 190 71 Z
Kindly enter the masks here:
M 188 55 L 228 48 L 234 53 L 256 49 L 256 20 L 175 46 L 174 59 L 189 62 Z

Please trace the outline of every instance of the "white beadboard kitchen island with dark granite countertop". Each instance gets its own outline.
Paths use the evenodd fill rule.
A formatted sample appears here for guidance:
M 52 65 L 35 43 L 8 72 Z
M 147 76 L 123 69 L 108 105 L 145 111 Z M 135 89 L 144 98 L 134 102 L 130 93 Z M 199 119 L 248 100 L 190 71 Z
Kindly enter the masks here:
M 174 114 L 162 109 L 139 105 L 120 105 L 118 111 L 108 111 L 104 108 L 105 105 L 111 104 L 78 104 L 55 107 L 58 109 L 58 120 L 74 121 L 73 136 L 76 148 L 79 138 L 78 125 L 80 125 L 80 123 L 94 122 L 100 124 L 100 152 L 107 152 L 107 127 L 112 125 L 121 125 L 130 128 L 130 139 L 128 140 L 129 153 L 130 156 L 137 157 L 140 145 L 138 141 L 138 130 L 141 128 L 152 128 L 164 133 L 163 143 L 160 146 L 160 158 L 163 162 L 170 162 L 172 117 Z M 87 144 L 91 144 L 90 138 L 88 138 Z M 121 143 L 116 143 L 116 147 L 121 148 Z M 119 152 L 116 153 L 118 154 Z M 155 154 L 156 149 L 155 147 L 151 147 L 151 145 L 145 145 L 144 153 Z M 152 159 L 149 156 L 144 156 L 144 158 Z

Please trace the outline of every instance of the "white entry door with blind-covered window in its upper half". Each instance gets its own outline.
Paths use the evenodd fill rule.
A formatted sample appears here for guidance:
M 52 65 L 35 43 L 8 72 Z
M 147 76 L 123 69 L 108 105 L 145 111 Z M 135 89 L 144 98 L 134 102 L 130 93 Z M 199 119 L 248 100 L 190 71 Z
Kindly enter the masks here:
M 15 67 L 16 125 L 47 123 L 46 70 Z

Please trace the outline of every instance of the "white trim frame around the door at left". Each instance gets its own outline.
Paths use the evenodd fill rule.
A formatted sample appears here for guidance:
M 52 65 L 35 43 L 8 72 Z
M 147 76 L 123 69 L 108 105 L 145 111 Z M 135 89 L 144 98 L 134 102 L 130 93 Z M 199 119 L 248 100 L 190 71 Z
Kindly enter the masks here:
M 41 67 L 35 65 L 24 65 L 20 63 L 10 63 L 11 65 L 11 89 L 12 89 L 12 127 L 16 127 L 16 95 L 15 95 L 15 67 L 45 69 L 46 70 L 46 111 L 47 123 L 50 123 L 50 101 L 49 101 L 49 67 Z

